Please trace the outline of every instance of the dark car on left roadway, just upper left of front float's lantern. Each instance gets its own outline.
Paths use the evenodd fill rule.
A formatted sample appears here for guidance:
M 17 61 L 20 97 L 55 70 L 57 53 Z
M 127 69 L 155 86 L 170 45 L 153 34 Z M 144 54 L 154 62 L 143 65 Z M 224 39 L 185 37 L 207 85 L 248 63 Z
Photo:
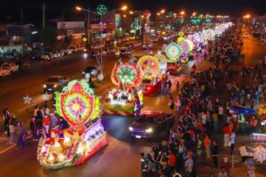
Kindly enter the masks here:
M 53 93 L 59 91 L 68 83 L 69 79 L 65 78 L 62 75 L 52 75 L 48 80 L 43 84 L 43 93 Z

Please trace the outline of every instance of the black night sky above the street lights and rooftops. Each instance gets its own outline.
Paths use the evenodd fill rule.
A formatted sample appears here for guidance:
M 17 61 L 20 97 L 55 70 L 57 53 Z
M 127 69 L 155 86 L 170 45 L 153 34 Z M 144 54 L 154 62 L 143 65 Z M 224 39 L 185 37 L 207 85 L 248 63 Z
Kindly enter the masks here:
M 167 11 L 192 13 L 229 14 L 242 16 L 246 12 L 264 14 L 266 0 L 45 0 L 47 14 L 50 19 L 77 19 L 81 14 L 74 12 L 77 4 L 95 10 L 98 4 L 106 4 L 109 10 L 128 4 L 130 10 L 149 9 L 158 12 L 164 8 Z M 23 7 L 23 22 L 34 23 L 37 26 L 42 21 L 43 0 L 0 0 L 0 22 L 20 23 L 20 8 Z

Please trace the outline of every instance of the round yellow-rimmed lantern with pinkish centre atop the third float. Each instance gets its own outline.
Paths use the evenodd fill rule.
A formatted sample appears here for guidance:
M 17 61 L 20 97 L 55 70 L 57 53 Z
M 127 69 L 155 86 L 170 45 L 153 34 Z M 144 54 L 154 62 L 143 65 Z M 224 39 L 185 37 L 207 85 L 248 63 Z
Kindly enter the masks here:
M 152 78 L 158 75 L 160 64 L 157 58 L 144 56 L 137 61 L 137 68 L 145 74 L 145 78 Z

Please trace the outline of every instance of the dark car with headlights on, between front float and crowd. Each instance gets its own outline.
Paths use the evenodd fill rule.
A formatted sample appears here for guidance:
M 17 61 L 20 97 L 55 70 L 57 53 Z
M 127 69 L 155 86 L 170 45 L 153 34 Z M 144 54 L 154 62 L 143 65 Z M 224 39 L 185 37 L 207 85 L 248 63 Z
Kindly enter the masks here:
M 129 135 L 135 138 L 154 138 L 172 127 L 174 117 L 164 112 L 143 112 L 130 125 Z

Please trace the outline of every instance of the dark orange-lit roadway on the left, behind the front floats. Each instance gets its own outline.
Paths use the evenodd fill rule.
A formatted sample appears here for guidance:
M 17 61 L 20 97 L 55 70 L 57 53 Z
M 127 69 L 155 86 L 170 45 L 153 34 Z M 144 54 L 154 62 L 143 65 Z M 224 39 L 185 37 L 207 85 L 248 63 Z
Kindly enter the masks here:
M 154 45 L 153 50 L 158 50 L 159 43 Z M 132 50 L 132 54 L 138 57 L 145 54 L 142 49 Z M 117 56 L 104 58 L 104 74 L 110 81 L 110 73 L 113 69 Z M 11 76 L 0 78 L 0 110 L 9 107 L 12 112 L 17 112 L 27 106 L 24 104 L 24 96 L 33 97 L 33 102 L 43 100 L 43 83 L 51 75 L 64 75 L 70 80 L 82 78 L 82 71 L 87 65 L 97 65 L 96 58 L 85 58 L 83 53 L 66 56 L 51 63 L 37 63 L 27 71 L 19 71 Z M 109 84 L 110 85 L 110 84 Z

